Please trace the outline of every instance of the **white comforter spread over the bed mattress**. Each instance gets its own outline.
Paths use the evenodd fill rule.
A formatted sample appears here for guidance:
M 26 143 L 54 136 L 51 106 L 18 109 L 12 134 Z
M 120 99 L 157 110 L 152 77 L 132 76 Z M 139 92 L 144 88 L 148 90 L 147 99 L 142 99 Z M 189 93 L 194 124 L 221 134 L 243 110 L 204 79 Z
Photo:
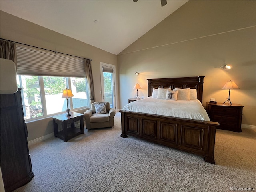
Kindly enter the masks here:
M 123 110 L 210 121 L 199 100 L 173 101 L 147 97 L 127 104 Z

